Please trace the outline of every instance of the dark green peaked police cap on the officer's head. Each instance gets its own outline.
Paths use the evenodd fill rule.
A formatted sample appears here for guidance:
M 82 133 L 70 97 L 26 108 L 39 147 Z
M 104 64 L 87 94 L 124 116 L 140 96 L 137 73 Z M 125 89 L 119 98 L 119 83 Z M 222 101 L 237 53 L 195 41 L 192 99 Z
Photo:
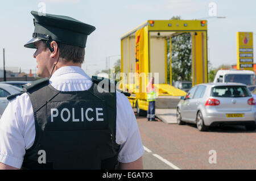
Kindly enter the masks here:
M 85 48 L 87 36 L 96 29 L 69 16 L 36 11 L 31 11 L 31 14 L 34 16 L 35 30 L 33 38 L 24 45 L 26 48 L 35 48 L 34 43 L 40 40 L 54 40 L 57 43 Z

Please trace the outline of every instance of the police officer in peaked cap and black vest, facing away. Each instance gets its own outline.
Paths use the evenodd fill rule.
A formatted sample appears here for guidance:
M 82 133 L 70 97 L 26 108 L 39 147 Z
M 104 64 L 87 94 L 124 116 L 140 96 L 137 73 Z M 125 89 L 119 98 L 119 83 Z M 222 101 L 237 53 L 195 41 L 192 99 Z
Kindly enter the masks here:
M 143 145 L 129 100 L 81 69 L 95 27 L 31 11 L 42 79 L 9 96 L 0 120 L 0 169 L 143 169 Z M 119 163 L 119 164 L 118 164 Z

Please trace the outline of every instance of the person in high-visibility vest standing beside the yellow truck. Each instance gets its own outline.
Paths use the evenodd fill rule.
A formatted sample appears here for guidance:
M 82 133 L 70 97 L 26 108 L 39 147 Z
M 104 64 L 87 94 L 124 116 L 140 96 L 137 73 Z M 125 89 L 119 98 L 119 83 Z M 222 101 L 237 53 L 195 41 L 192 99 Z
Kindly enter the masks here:
M 147 84 L 147 120 L 148 121 L 156 121 L 155 120 L 155 100 L 156 100 L 156 91 L 154 87 L 154 77 L 150 78 L 150 81 Z

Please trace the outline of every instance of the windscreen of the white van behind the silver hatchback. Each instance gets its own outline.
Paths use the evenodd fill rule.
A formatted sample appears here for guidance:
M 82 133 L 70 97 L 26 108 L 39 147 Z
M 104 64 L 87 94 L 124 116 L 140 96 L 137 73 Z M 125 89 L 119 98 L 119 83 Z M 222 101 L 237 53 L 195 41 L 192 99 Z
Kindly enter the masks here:
M 255 75 L 251 74 L 226 74 L 225 82 L 244 83 L 246 85 L 254 85 Z

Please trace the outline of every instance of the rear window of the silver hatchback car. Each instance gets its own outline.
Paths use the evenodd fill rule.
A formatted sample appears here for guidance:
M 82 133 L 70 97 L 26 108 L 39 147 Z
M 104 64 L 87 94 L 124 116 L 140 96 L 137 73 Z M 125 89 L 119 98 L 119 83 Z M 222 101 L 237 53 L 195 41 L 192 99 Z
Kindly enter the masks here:
M 251 93 L 246 86 L 216 86 L 212 87 L 210 96 L 224 98 L 247 97 L 251 96 Z

